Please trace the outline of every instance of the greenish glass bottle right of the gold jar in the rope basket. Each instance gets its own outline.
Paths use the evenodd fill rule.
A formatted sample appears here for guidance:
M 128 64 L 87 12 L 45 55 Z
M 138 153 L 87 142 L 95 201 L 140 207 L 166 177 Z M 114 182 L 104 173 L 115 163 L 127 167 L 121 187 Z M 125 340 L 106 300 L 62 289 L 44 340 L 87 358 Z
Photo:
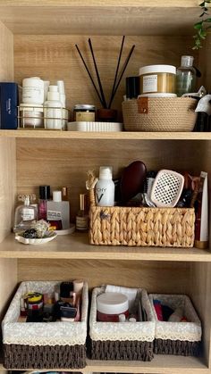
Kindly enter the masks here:
M 176 93 L 182 96 L 196 92 L 196 70 L 193 67 L 193 56 L 181 56 L 181 67 L 176 72 Z

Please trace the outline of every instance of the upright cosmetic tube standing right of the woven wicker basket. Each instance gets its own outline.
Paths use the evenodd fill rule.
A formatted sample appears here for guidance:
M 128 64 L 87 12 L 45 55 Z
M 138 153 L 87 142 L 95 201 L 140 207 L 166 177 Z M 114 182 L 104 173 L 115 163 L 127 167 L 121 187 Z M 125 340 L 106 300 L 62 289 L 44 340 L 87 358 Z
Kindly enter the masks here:
M 201 171 L 200 173 L 197 203 L 195 246 L 199 249 L 205 249 L 208 246 L 208 187 L 207 172 L 205 171 Z

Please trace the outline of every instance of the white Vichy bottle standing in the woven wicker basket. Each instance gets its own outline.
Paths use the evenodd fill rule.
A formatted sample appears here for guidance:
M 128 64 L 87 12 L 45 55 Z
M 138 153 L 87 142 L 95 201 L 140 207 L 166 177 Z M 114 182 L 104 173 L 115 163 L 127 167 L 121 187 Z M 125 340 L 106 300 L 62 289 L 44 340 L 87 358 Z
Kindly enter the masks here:
M 96 184 L 96 204 L 98 206 L 114 206 L 114 181 L 112 167 L 100 166 L 99 179 Z

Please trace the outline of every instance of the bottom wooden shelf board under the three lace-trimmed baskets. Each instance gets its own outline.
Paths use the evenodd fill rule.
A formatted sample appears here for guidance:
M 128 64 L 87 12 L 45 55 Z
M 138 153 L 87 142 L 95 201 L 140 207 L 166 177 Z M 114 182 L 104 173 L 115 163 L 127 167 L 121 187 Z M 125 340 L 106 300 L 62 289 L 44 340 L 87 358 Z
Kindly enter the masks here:
M 0 370 L 5 370 L 3 365 Z M 27 371 L 54 371 L 54 369 L 46 370 L 27 370 Z M 82 373 L 151 373 L 151 374 L 178 374 L 178 373 L 205 373 L 210 374 L 201 358 L 198 357 L 182 357 L 173 355 L 155 355 L 151 362 L 123 362 L 123 361 L 92 361 L 87 360 L 87 366 L 80 370 L 60 369 L 56 371 L 80 371 Z

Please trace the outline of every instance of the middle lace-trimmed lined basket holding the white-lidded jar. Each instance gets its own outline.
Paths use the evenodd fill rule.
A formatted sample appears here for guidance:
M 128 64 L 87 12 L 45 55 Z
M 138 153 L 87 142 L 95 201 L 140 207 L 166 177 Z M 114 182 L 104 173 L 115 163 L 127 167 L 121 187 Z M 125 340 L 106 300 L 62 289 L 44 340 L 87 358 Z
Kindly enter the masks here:
M 104 287 L 94 288 L 92 292 L 89 318 L 90 358 L 92 360 L 139 360 L 153 359 L 153 341 L 155 337 L 155 318 L 148 300 L 147 292 L 138 289 L 141 303 L 147 312 L 146 322 L 98 322 L 97 295 Z

